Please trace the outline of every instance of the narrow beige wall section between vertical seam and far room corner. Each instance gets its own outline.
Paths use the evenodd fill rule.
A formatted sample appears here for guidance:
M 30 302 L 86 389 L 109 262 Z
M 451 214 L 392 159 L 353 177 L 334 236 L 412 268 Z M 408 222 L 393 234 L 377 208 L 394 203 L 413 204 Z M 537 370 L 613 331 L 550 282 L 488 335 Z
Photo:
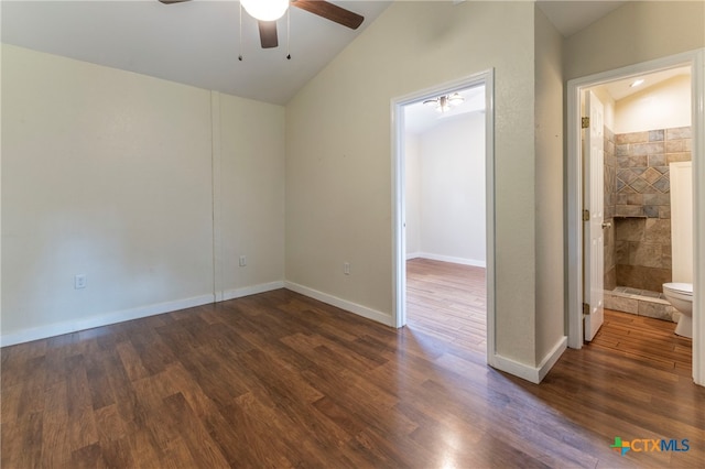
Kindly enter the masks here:
M 221 286 L 232 297 L 284 279 L 284 108 L 228 95 L 219 102 Z

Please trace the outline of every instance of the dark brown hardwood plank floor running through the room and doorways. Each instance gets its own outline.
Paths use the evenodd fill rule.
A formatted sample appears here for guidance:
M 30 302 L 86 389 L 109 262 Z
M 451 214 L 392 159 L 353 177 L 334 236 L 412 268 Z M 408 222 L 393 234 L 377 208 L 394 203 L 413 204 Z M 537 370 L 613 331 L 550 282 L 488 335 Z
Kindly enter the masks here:
M 485 364 L 481 270 L 409 270 L 401 330 L 280 290 L 3 348 L 1 466 L 703 467 L 705 389 L 675 364 L 596 341 L 523 382 Z

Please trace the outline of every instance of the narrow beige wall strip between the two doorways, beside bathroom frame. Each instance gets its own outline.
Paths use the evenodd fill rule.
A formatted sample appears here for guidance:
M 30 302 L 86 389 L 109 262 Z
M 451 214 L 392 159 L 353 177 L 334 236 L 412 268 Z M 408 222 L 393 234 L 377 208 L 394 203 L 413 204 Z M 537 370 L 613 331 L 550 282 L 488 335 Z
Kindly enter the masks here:
M 535 9 L 536 363 L 565 337 L 563 37 Z

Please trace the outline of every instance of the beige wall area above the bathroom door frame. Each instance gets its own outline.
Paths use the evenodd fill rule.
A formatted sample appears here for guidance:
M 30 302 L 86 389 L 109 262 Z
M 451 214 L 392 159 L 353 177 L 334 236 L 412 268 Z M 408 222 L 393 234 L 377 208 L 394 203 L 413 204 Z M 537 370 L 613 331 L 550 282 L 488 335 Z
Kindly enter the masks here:
M 705 46 L 705 2 L 629 1 L 565 41 L 564 78 Z

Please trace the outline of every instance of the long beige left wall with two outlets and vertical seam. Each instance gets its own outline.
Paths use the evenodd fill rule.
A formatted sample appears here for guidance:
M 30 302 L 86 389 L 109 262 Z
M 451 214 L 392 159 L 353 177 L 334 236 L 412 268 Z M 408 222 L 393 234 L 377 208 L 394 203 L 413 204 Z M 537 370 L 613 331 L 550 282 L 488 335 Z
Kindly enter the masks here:
M 212 302 L 214 259 L 283 282 L 282 107 L 216 94 L 214 132 L 208 90 L 4 44 L 2 74 L 3 343 Z

